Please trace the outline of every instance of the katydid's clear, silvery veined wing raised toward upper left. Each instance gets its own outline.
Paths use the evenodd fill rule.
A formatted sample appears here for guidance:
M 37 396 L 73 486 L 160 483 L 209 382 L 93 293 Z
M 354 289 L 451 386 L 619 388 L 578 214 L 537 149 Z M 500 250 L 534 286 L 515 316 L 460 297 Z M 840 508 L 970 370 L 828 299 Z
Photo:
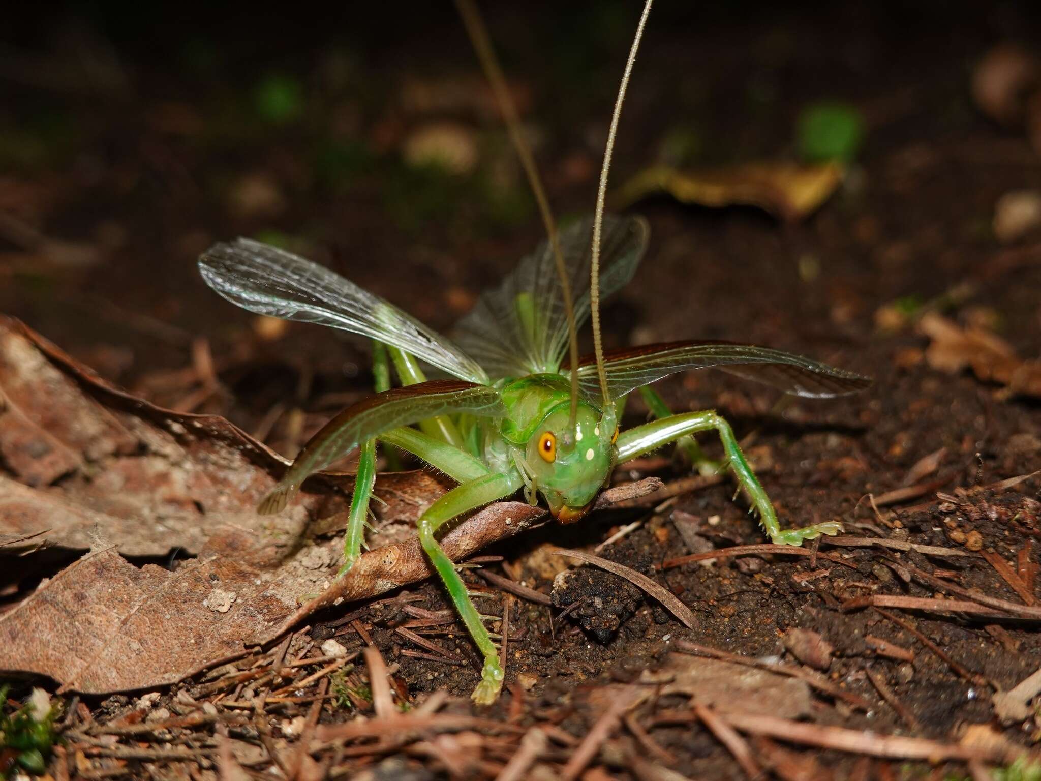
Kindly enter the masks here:
M 325 267 L 260 242 L 215 244 L 199 258 L 206 284 L 244 309 L 340 328 L 401 348 L 468 382 L 480 364 L 449 338 Z

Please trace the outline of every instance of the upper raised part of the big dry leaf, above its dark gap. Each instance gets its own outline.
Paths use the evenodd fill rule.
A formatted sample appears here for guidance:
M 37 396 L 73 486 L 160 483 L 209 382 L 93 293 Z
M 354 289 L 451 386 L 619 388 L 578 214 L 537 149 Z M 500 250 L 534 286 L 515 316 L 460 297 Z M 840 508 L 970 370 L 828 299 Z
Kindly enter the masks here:
M 274 562 L 305 530 L 342 526 L 353 478 L 319 477 L 275 519 L 256 503 L 287 461 L 217 415 L 185 414 L 120 391 L 44 337 L 0 318 L 0 534 L 47 529 L 49 545 L 118 545 L 129 556 L 198 554 L 230 523 L 272 540 Z M 423 473 L 381 478 L 383 517 L 414 520 L 449 483 Z M 308 525 L 310 526 L 308 527 Z M 34 540 L 42 541 L 40 539 Z

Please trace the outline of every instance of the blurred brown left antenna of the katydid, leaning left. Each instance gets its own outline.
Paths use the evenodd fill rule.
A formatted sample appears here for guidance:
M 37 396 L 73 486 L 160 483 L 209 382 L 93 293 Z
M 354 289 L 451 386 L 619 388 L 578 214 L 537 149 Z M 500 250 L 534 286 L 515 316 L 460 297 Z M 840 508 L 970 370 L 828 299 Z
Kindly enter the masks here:
M 520 158 L 520 166 L 528 176 L 528 183 L 531 185 L 535 202 L 538 204 L 538 212 L 542 217 L 542 224 L 545 226 L 547 235 L 550 238 L 550 246 L 553 249 L 553 257 L 557 263 L 557 275 L 560 277 L 560 291 L 564 299 L 564 312 L 567 316 L 567 336 L 570 345 L 570 366 L 572 366 L 572 414 L 568 429 L 575 429 L 575 422 L 578 415 L 579 399 L 579 337 L 578 329 L 575 326 L 575 304 L 572 301 L 572 285 L 567 279 L 567 270 L 564 268 L 564 256 L 560 252 L 560 241 L 557 237 L 556 223 L 553 213 L 550 211 L 550 202 L 542 190 L 542 182 L 538 177 L 538 170 L 535 168 L 535 160 L 532 157 L 531 149 L 525 142 L 524 133 L 520 131 L 520 120 L 517 118 L 516 107 L 510 98 L 509 90 L 506 87 L 506 79 L 503 77 L 503 70 L 499 67 L 496 51 L 491 48 L 491 39 L 488 30 L 481 20 L 481 14 L 473 0 L 455 0 L 459 16 L 462 17 L 463 25 L 466 27 L 466 34 L 477 52 L 477 58 L 481 60 L 481 68 L 484 75 L 491 84 L 491 91 L 499 102 L 499 109 L 503 112 L 506 121 L 506 129 L 509 131 L 510 141 L 516 148 L 517 157 Z

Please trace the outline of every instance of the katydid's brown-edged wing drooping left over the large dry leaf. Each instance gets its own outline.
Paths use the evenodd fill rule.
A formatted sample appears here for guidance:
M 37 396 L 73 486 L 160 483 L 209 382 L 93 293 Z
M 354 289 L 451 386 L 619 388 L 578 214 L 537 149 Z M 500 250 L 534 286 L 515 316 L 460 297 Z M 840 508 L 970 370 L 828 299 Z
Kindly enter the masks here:
M 257 511 L 262 515 L 281 512 L 309 475 L 347 455 L 365 439 L 449 412 L 496 418 L 505 415 L 506 408 L 496 388 L 458 380 L 431 380 L 370 396 L 345 409 L 310 438 Z

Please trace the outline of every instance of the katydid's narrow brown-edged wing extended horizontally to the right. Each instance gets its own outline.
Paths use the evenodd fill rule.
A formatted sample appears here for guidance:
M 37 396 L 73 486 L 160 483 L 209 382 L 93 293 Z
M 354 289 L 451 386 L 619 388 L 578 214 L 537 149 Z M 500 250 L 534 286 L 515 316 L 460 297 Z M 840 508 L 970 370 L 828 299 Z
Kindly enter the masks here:
M 835 369 L 801 355 L 732 342 L 672 342 L 609 351 L 605 356 L 611 398 L 648 385 L 677 372 L 717 367 L 756 382 L 809 398 L 845 396 L 871 384 L 859 374 Z M 592 356 L 579 361 L 584 394 L 600 398 L 596 363 Z

